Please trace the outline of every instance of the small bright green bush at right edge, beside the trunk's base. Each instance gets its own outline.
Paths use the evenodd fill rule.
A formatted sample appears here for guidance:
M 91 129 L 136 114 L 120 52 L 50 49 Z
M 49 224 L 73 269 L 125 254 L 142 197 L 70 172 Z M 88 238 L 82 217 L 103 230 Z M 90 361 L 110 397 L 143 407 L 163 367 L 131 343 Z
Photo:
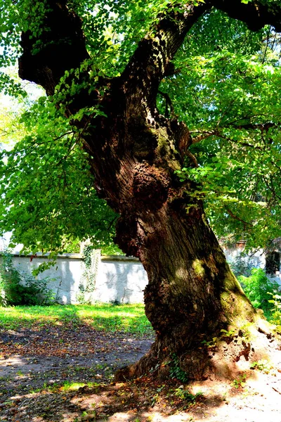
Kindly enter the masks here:
M 277 293 L 279 284 L 276 281 L 270 281 L 260 268 L 251 269 L 251 276 L 240 276 L 239 281 L 252 305 L 268 312 L 270 308 L 268 300 L 270 300 L 270 295 Z

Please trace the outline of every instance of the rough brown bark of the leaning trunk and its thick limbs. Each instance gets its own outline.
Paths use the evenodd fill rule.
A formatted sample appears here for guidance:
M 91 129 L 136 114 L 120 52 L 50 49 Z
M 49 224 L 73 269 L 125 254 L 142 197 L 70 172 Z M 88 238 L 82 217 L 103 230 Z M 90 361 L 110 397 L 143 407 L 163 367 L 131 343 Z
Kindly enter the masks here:
M 121 215 L 117 243 L 126 254 L 139 257 L 148 272 L 145 312 L 156 341 L 150 353 L 120 371 L 119 378 L 150 369 L 164 376 L 173 355 L 189 378 L 202 379 L 210 373 L 229 376 L 235 362 L 251 360 L 251 356 L 257 359 L 255 341 L 270 335 L 266 322 L 231 273 L 202 203 L 192 196 L 195 186 L 182 184 L 175 176 L 192 142 L 188 128 L 177 120 L 167 120 L 156 108 L 159 82 L 171 72 L 174 54 L 193 23 L 211 6 L 244 20 L 254 30 L 266 23 L 280 27 L 280 16 L 275 19 L 264 6 L 255 6 L 253 11 L 252 4 L 233 1 L 233 8 L 229 3 L 214 0 L 196 8 L 186 6 L 182 14 L 171 11 L 159 22 L 157 31 L 141 41 L 121 77 L 100 79 L 100 85 L 107 88 L 102 98 L 95 93 L 89 98 L 82 92 L 67 112 L 90 103 L 98 104 L 107 116 L 94 121 L 87 117 L 76 124 L 86 126 L 84 148 L 93 156 L 96 189 Z M 33 41 L 22 34 L 24 53 L 20 59 L 20 76 L 41 84 L 48 94 L 53 93 L 63 69 L 88 57 L 86 49 L 80 48 L 79 19 L 67 11 L 65 2 L 60 3 L 59 12 L 58 2 L 51 4 L 48 27 L 55 22 L 52 16 L 60 13 L 65 29 L 56 34 L 55 44 L 46 47 L 44 59 L 42 53 L 32 56 Z M 74 51 L 79 51 L 66 63 L 65 56 L 60 60 L 60 50 L 65 48 L 60 39 L 65 33 L 73 39 Z M 192 160 L 190 165 L 194 165 Z M 218 339 L 212 340 L 214 337 Z

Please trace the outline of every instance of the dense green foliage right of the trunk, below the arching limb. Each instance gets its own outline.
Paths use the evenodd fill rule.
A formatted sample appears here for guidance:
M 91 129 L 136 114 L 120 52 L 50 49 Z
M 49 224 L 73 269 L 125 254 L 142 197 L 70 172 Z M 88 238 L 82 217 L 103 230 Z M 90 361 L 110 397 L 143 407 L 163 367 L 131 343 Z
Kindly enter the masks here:
M 188 124 L 199 164 L 190 168 L 188 158 L 178 176 L 195 181 L 192 195 L 204 200 L 219 237 L 243 236 L 257 248 L 280 236 L 280 36 L 275 44 L 270 28 L 253 34 L 220 12 L 203 21 L 207 41 L 195 37 L 200 21 L 176 58 L 181 72 L 162 87 Z

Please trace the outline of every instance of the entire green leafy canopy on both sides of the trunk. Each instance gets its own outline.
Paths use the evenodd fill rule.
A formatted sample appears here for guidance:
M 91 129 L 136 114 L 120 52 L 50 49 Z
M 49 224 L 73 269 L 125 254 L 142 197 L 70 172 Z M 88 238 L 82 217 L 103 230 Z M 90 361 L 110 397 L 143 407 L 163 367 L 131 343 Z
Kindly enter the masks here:
M 13 241 L 34 251 L 63 249 L 73 238 L 110 242 L 117 216 L 92 187 L 89 157 L 81 148 L 83 133 L 74 133 L 63 109 L 53 104 L 81 89 L 80 71 L 90 71 L 96 80 L 119 76 L 138 41 L 169 9 L 181 11 L 184 2 L 67 4 L 82 19 L 90 59 L 72 71 L 77 75 L 72 85 L 62 84 L 53 98 L 25 101 L 20 124 L 26 135 L 11 151 L 1 152 L 0 229 L 13 229 Z M 0 6 L 0 88 L 5 94 L 26 96 L 5 68 L 20 56 L 22 30 L 38 37 L 46 7 L 46 0 L 5 0 Z M 37 43 L 34 52 L 38 49 Z M 218 236 L 243 236 L 249 247 L 281 236 L 280 35 L 272 27 L 251 32 L 212 10 L 192 27 L 174 65 L 176 72 L 160 87 L 171 104 L 159 95 L 157 106 L 188 125 L 194 142 L 190 152 L 198 162 L 198 167 L 190 165 L 195 160 L 188 154 L 178 177 L 197 183 L 193 194 L 204 200 Z M 103 111 L 83 109 L 74 117 L 87 113 Z

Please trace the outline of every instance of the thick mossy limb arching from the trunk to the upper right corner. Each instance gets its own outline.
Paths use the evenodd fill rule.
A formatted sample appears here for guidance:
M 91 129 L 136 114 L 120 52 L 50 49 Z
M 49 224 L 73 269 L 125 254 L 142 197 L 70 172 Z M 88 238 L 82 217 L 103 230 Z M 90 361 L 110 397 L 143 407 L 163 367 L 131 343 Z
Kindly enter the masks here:
M 171 60 L 183 43 L 185 35 L 211 7 L 228 13 L 231 18 L 242 20 L 251 30 L 257 31 L 264 25 L 272 25 L 276 31 L 281 31 L 280 4 L 268 6 L 261 1 L 243 4 L 241 0 L 206 0 L 200 6 L 185 6 L 183 13 L 171 9 L 159 21 L 156 32 L 150 32 L 140 42 L 123 72 L 122 78 L 127 82 L 126 91 L 131 91 L 134 101 L 138 96 L 142 101 L 146 100 L 145 103 L 153 110 L 159 83 L 169 73 Z

